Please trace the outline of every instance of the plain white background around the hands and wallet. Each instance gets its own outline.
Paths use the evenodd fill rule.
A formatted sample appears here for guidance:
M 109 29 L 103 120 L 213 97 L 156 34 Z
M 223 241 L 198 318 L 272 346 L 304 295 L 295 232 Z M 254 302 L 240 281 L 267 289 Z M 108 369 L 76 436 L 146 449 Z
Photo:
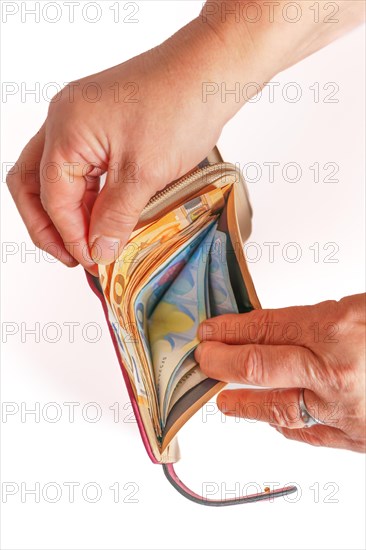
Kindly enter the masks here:
M 27 2 L 27 7 L 33 4 Z M 80 6 L 84 4 L 81 1 Z M 3 81 L 16 83 L 19 90 L 39 82 L 42 91 L 48 82 L 63 84 L 113 66 L 164 40 L 196 16 L 201 3 L 139 2 L 134 24 L 114 23 L 111 5 L 101 3 L 102 17 L 95 24 L 83 20 L 81 7 L 75 10 L 73 24 L 67 22 L 65 7 L 54 24 L 42 17 L 35 23 L 32 16 L 25 24 L 20 11 L 9 17 L 2 25 Z M 120 19 L 129 11 L 122 10 Z M 54 13 L 50 8 L 48 17 Z M 89 13 L 94 17 L 92 10 Z M 363 51 L 361 28 L 276 77 L 280 86 L 274 102 L 265 90 L 221 137 L 226 160 L 241 166 L 257 163 L 263 170 L 259 181 L 248 182 L 254 208 L 250 241 L 256 243 L 248 254 L 254 258 L 258 247 L 262 251 L 250 269 L 264 307 L 312 304 L 364 291 Z M 296 103 L 283 99 L 289 82 L 301 86 L 302 98 Z M 319 102 L 310 89 L 316 82 Z M 332 91 L 323 89 L 329 82 L 339 87 L 337 103 L 324 102 Z M 54 92 L 49 93 L 51 97 Z M 22 99 L 20 91 L 3 98 L 3 168 L 5 162 L 17 159 L 38 130 L 47 107 L 42 97 Z M 272 183 L 264 162 L 281 163 Z M 301 166 L 300 181 L 288 182 L 281 176 L 289 162 Z M 320 182 L 314 182 L 309 167 L 315 162 L 337 163 L 339 173 L 334 177 L 339 181 L 325 182 L 329 171 L 323 171 Z M 255 179 L 253 170 L 248 168 L 249 180 Z M 221 492 L 226 487 L 238 489 L 235 484 L 243 490 L 249 482 L 261 487 L 268 482 L 297 482 L 298 500 L 214 509 L 197 506 L 175 492 L 162 469 L 147 458 L 136 424 L 128 421 L 128 396 L 103 314 L 81 268 L 67 270 L 42 256 L 21 254 L 24 247 L 34 247 L 4 186 L 2 239 L 15 243 L 15 253 L 2 256 L 3 341 L 4 326 L 9 330 L 9 323 L 14 323 L 11 326 L 17 330 L 3 351 L 2 400 L 14 414 L 2 416 L 2 482 L 19 487 L 2 504 L 2 548 L 364 548 L 362 455 L 291 442 L 263 424 L 225 422 L 213 405 L 182 431 L 183 459 L 177 469 L 184 481 L 198 491 L 203 482 L 217 487 L 226 482 Z M 264 242 L 280 243 L 273 262 Z M 289 242 L 300 247 L 298 262 L 282 255 Z M 314 243 L 319 243 L 319 261 L 309 249 Z M 337 262 L 325 261 L 332 252 L 323 249 L 327 243 L 336 243 Z M 288 249 L 290 257 L 293 253 Z M 79 323 L 74 342 L 65 325 L 70 322 Z M 35 323 L 40 324 L 39 342 L 24 333 Z M 49 341 L 57 325 L 52 329 L 48 323 L 59 326 L 58 342 Z M 101 327 L 95 343 L 90 342 L 95 330 L 89 326 L 85 332 L 87 323 Z M 45 406 L 50 402 L 58 404 L 57 422 L 51 422 L 56 409 Z M 79 404 L 74 422 L 69 420 L 67 402 Z M 95 409 L 84 408 L 91 402 L 101 413 L 95 423 L 90 422 Z M 35 403 L 41 410 L 39 422 L 32 415 L 22 421 L 21 411 Z M 114 403 L 120 407 L 116 416 L 110 409 Z M 65 482 L 80 484 L 73 503 Z M 48 502 L 55 496 L 51 487 L 39 503 L 32 495 L 25 495 L 22 502 L 21 483 L 23 489 L 39 483 L 41 491 L 47 483 L 57 484 L 60 500 Z M 98 502 L 83 498 L 87 483 L 100 488 Z M 121 489 L 117 503 L 109 489 L 116 483 Z M 128 502 L 134 486 L 125 487 L 127 483 L 137 484 L 138 502 Z M 87 498 L 94 494 L 91 488 Z

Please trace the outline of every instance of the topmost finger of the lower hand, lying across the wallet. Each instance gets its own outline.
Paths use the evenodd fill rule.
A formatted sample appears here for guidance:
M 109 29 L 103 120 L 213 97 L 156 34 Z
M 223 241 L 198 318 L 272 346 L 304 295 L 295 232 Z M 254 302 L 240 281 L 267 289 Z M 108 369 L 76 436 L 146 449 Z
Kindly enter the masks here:
M 334 312 L 336 302 L 323 302 L 327 315 Z M 282 309 L 256 309 L 245 314 L 228 314 L 204 321 L 198 330 L 201 341 L 226 344 L 297 344 L 314 341 L 314 323 L 319 325 L 319 309 L 296 306 Z M 323 337 L 323 328 L 319 327 Z M 324 334 L 326 336 L 326 334 Z

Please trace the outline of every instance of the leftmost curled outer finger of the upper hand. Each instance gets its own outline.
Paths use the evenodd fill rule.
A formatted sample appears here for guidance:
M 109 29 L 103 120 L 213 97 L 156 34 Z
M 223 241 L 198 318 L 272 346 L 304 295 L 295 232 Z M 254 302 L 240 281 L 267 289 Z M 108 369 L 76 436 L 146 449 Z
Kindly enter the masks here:
M 66 250 L 40 199 L 40 161 L 45 139 L 44 125 L 23 149 L 7 177 L 7 185 L 33 243 L 68 267 L 78 262 Z

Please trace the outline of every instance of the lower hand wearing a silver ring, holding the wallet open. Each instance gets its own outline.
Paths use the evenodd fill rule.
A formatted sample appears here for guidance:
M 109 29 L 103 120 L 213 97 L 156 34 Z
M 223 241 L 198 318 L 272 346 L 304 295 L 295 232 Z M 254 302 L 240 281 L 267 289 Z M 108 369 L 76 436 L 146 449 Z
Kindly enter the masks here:
M 289 439 L 365 451 L 365 297 L 205 321 L 196 350 L 205 374 L 268 388 L 224 390 L 220 410 L 268 422 Z M 325 425 L 304 428 L 301 388 Z

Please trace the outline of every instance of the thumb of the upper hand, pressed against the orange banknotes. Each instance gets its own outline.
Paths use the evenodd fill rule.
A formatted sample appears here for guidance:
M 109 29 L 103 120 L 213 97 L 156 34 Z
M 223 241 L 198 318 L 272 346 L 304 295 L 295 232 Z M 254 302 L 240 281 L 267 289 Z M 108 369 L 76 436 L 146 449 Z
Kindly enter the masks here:
M 89 245 L 93 260 L 108 265 L 115 261 L 131 232 L 139 215 L 148 203 L 153 191 L 149 190 L 136 177 L 131 176 L 130 168 L 109 167 L 106 183 L 96 199 L 90 218 Z

